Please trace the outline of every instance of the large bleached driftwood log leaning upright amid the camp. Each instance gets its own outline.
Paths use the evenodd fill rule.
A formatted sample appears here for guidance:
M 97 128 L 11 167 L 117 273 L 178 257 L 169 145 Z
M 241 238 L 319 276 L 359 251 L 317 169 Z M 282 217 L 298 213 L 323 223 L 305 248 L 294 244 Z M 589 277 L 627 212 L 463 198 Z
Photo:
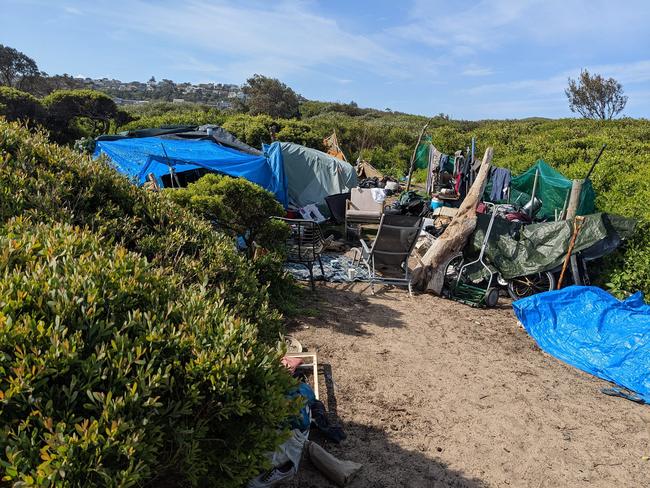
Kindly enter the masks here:
M 485 185 L 490 173 L 493 150 L 488 147 L 483 155 L 476 180 L 472 184 L 463 203 L 458 209 L 458 214 L 421 259 L 421 263 L 413 272 L 415 286 L 436 294 L 442 293 L 443 280 L 440 279 L 448 259 L 461 251 L 469 236 L 476 228 L 476 206 L 481 201 Z

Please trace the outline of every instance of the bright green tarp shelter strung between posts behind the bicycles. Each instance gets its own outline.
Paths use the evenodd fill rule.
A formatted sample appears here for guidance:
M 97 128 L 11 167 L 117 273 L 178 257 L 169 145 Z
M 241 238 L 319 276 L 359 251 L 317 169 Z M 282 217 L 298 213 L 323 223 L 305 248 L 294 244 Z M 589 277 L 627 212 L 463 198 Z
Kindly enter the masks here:
M 510 203 L 523 206 L 530 201 L 535 181 L 535 173 L 539 170 L 536 197 L 542 201 L 542 208 L 537 213 L 539 219 L 554 219 L 555 210 L 558 213 L 564 207 L 567 195 L 571 192 L 572 181 L 559 171 L 551 168 L 543 160 L 537 161 L 519 176 L 512 178 L 510 182 Z M 488 183 L 484 197 L 490 200 L 492 183 Z M 587 215 L 595 211 L 595 193 L 591 181 L 586 180 L 582 185 L 578 215 Z

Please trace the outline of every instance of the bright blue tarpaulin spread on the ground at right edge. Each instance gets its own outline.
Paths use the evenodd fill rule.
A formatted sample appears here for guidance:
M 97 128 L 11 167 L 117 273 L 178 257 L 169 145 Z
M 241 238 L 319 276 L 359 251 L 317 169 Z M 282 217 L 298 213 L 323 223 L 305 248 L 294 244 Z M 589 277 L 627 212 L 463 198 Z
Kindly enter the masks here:
M 641 292 L 620 301 L 600 288 L 569 286 L 512 306 L 544 351 L 650 402 L 650 305 Z

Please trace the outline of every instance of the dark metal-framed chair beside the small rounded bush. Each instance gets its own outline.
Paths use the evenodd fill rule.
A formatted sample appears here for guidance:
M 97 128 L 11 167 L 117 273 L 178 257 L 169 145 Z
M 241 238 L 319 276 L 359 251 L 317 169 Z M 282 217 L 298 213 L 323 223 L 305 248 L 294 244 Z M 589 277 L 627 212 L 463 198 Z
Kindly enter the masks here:
M 323 249 L 325 249 L 325 240 L 320 226 L 313 220 L 273 218 L 285 222 L 291 228 L 291 234 L 285 241 L 287 261 L 302 264 L 309 270 L 309 283 L 314 291 L 316 289 L 314 286 L 314 263 L 316 261 L 318 261 L 320 272 L 325 278 L 325 270 L 320 258 Z

